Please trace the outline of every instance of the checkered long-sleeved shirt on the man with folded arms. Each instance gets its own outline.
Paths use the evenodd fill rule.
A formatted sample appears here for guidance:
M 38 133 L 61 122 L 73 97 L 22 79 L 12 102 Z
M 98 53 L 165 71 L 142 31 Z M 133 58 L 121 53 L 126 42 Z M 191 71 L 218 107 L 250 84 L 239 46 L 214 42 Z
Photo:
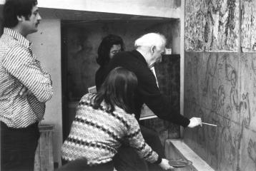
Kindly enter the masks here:
M 23 87 L 31 95 L 21 98 Z M 53 95 L 51 76 L 31 51 L 31 42 L 11 28 L 0 38 L 0 120 L 11 128 L 26 128 L 44 117 Z

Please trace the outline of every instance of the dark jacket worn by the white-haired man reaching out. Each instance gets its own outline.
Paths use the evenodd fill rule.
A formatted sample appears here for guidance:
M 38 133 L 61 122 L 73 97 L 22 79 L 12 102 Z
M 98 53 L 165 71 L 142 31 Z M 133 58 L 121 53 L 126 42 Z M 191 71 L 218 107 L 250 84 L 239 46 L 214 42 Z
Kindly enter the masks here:
M 134 114 L 137 120 L 139 120 L 142 105 L 145 103 L 159 118 L 169 120 L 169 122 L 182 125 L 183 127 L 189 125 L 189 119 L 180 115 L 179 111 L 175 111 L 172 105 L 168 103 L 167 98 L 160 93 L 156 78 L 147 66 L 147 62 L 141 53 L 138 51 L 117 53 L 109 62 L 107 71 L 104 72 L 104 78 L 106 78 L 109 71 L 118 66 L 127 68 L 137 76 L 138 88 L 134 95 Z M 102 85 L 102 83 L 96 86 L 100 87 L 100 85 Z

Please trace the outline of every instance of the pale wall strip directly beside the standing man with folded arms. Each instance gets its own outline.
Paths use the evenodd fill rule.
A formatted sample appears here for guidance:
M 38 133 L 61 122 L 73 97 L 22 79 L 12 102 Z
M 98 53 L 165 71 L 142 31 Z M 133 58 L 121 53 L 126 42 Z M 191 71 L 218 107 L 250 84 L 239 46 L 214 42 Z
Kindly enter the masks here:
M 46 113 L 42 124 L 54 125 L 54 162 L 61 164 L 62 144 L 61 108 L 61 23 L 59 19 L 43 19 L 39 31 L 28 36 L 33 51 L 43 68 L 51 74 L 54 95 L 46 103 Z

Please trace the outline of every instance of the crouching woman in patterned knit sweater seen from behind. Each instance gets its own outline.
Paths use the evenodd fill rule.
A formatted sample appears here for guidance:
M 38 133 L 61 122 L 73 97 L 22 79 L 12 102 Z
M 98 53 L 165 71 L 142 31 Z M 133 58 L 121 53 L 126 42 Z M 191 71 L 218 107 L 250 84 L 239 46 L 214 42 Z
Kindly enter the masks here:
M 139 156 L 172 168 L 142 137 L 134 118 L 133 95 L 137 77 L 127 69 L 114 68 L 97 94 L 86 94 L 79 102 L 69 137 L 62 145 L 62 157 L 68 162 L 87 161 L 84 170 L 113 170 L 112 159 L 123 142 L 134 147 Z

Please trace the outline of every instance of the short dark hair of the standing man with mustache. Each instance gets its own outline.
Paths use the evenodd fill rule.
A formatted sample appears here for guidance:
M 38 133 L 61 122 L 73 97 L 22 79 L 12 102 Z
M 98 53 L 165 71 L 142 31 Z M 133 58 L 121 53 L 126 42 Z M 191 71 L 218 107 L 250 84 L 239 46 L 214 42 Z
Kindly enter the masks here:
M 6 0 L 4 4 L 4 27 L 12 28 L 18 24 L 17 16 L 29 20 L 31 9 L 37 5 L 37 0 Z

